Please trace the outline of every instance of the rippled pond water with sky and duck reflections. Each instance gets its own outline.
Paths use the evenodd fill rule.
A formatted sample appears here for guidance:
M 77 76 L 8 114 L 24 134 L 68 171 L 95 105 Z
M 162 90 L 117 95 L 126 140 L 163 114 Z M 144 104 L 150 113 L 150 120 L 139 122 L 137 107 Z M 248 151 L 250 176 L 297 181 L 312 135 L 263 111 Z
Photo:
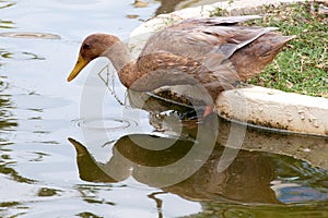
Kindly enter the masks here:
M 327 168 L 222 146 L 327 138 L 183 121 L 150 96 L 138 109 L 104 60 L 67 83 L 86 35 L 126 39 L 178 2 L 0 1 L 0 217 L 328 217 Z

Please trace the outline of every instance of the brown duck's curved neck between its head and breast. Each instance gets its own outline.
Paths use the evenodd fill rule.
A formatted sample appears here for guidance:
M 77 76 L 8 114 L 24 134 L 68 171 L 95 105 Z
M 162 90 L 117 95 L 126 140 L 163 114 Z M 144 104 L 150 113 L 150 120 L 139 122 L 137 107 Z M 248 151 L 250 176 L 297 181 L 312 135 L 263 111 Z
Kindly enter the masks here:
M 108 47 L 102 57 L 106 57 L 112 61 L 120 82 L 126 87 L 130 87 L 138 80 L 139 72 L 136 68 L 136 60 L 133 60 L 128 47 L 122 41 L 119 40 Z

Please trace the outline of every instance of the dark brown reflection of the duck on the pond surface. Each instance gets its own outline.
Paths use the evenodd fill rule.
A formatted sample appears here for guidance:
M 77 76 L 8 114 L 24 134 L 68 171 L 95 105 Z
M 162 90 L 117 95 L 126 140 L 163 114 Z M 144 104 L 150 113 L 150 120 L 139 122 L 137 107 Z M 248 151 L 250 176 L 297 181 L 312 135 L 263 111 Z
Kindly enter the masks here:
M 106 164 L 97 162 L 85 146 L 69 138 L 78 154 L 80 178 L 90 182 L 120 182 L 133 177 L 138 182 L 154 186 L 154 180 L 179 177 L 180 169 L 169 170 L 161 175 L 149 173 L 148 167 L 167 166 L 185 157 L 195 143 L 190 140 L 173 140 L 148 134 L 132 134 L 120 137 L 113 147 L 113 156 Z M 163 150 L 150 150 L 139 143 L 172 144 Z M 161 145 L 160 145 L 161 146 Z M 279 203 L 270 182 L 274 168 L 268 158 L 258 152 L 241 150 L 227 169 L 218 171 L 218 162 L 224 148 L 215 145 L 211 155 L 194 174 L 176 184 L 162 187 L 192 201 L 218 201 L 242 203 Z M 192 161 L 198 161 L 197 159 Z M 189 168 L 194 168 L 192 161 Z M 188 171 L 188 169 L 185 169 Z

